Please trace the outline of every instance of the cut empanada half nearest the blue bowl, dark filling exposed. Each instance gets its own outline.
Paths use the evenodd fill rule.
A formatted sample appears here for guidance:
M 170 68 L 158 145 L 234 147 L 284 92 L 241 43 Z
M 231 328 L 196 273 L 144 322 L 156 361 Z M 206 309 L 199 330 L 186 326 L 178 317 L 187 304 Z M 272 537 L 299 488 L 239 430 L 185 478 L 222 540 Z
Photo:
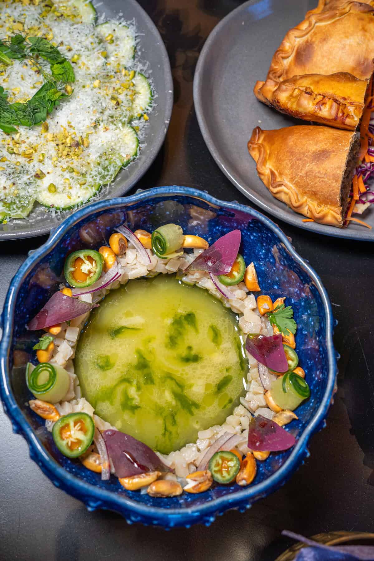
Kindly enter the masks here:
M 321 224 L 342 227 L 359 135 L 331 127 L 256 127 L 248 150 L 276 199 Z

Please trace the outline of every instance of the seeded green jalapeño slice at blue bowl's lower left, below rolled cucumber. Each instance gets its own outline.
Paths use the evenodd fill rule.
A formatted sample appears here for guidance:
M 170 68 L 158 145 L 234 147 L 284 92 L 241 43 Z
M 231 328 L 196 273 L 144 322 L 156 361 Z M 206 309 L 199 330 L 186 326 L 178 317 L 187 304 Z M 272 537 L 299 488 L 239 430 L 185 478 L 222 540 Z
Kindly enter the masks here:
M 87 413 L 70 413 L 53 425 L 52 436 L 60 452 L 68 458 L 77 458 L 91 445 L 95 432 L 92 417 Z

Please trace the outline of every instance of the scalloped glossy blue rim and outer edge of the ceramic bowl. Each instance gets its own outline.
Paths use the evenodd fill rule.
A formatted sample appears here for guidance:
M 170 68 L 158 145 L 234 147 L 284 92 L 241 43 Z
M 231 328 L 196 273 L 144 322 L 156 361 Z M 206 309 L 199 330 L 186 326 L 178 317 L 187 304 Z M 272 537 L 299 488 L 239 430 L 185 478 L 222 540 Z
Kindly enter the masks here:
M 224 206 L 224 208 L 227 209 L 241 210 L 244 211 L 244 213 L 251 214 L 279 237 L 280 241 L 290 252 L 293 259 L 301 265 L 304 270 L 306 270 L 320 293 L 326 314 L 325 343 L 328 358 L 328 379 L 326 391 L 315 416 L 309 422 L 306 429 L 304 429 L 287 461 L 284 462 L 283 466 L 281 466 L 278 471 L 257 485 L 244 488 L 232 496 L 223 496 L 206 504 L 183 509 L 150 507 L 149 505 L 144 505 L 136 502 L 135 500 L 131 500 L 125 495 L 116 494 L 111 491 L 98 488 L 95 485 L 91 485 L 64 470 L 64 468 L 54 461 L 54 459 L 47 453 L 34 434 L 33 429 L 22 415 L 22 412 L 19 409 L 12 393 L 7 366 L 17 292 L 23 279 L 30 272 L 31 268 L 33 268 L 39 258 L 46 256 L 49 251 L 57 245 L 68 229 L 73 226 L 73 224 L 79 222 L 82 218 L 89 217 L 90 214 L 99 210 L 111 209 L 119 205 L 145 201 L 149 197 L 163 197 L 165 195 L 196 197 L 219 207 Z M 146 525 L 152 524 L 155 526 L 163 526 L 165 528 L 172 528 L 176 526 L 190 527 L 193 523 L 198 522 L 205 523 L 205 525 L 209 526 L 210 523 L 214 522 L 217 515 L 223 514 L 225 511 L 232 508 L 238 508 L 243 512 L 245 509 L 250 508 L 253 502 L 260 498 L 264 498 L 264 496 L 270 494 L 283 485 L 289 477 L 292 476 L 293 472 L 301 465 L 304 457 L 309 455 L 307 445 L 312 434 L 321 430 L 325 426 L 325 416 L 330 406 L 335 384 L 336 358 L 333 344 L 333 312 L 329 297 L 327 296 L 326 289 L 322 285 L 320 277 L 318 277 L 311 266 L 297 254 L 287 236 L 285 236 L 281 229 L 272 220 L 265 217 L 257 210 L 253 210 L 250 206 L 220 201 L 203 191 L 178 186 L 155 187 L 146 191 L 138 192 L 136 195 L 129 197 L 118 197 L 110 201 L 98 201 L 97 203 L 92 203 L 91 205 L 77 210 L 70 217 L 64 220 L 64 222 L 56 229 L 51 231 L 47 242 L 27 257 L 24 264 L 21 265 L 20 269 L 13 277 L 10 288 L 8 289 L 1 315 L 1 323 L 3 326 L 3 335 L 0 345 L 0 396 L 2 398 L 4 411 L 7 413 L 12 422 L 13 432 L 24 436 L 27 444 L 29 445 L 31 459 L 39 465 L 41 470 L 49 477 L 53 484 L 57 487 L 61 487 L 68 494 L 75 496 L 77 499 L 82 500 L 87 509 L 90 511 L 93 511 L 96 508 L 111 509 L 121 513 L 128 523 L 142 522 Z

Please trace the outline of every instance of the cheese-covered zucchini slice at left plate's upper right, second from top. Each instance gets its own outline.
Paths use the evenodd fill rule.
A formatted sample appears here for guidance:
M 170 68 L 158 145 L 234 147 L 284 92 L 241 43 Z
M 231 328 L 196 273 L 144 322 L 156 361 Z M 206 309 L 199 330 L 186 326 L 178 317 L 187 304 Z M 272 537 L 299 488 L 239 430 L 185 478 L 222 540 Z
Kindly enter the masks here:
M 115 58 L 123 66 L 129 66 L 135 57 L 135 33 L 127 25 L 105 21 L 96 26 L 96 33 L 103 40 L 108 58 Z

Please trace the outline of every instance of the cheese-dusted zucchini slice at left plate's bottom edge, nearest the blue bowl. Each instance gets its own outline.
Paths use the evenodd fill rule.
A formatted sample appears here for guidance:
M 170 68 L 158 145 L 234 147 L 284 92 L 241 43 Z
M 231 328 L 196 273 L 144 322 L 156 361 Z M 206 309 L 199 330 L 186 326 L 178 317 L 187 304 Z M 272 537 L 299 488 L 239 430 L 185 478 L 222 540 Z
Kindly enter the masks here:
M 42 183 L 36 192 L 36 200 L 43 206 L 57 210 L 70 210 L 87 203 L 99 190 L 100 185 L 74 185 L 68 188 L 66 184 L 56 186 L 56 191 L 48 189 L 48 182 Z

